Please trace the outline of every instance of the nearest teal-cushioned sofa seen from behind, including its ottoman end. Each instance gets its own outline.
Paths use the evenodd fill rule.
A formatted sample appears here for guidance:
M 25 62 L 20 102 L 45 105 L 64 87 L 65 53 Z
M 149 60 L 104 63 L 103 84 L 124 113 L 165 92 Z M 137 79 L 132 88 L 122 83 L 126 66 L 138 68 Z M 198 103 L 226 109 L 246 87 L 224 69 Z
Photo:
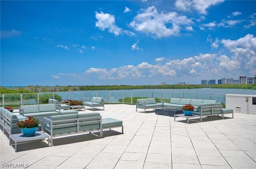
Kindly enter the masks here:
M 100 131 L 100 138 L 103 137 L 104 129 L 124 127 L 121 120 L 113 118 L 102 119 L 100 113 L 79 113 L 52 116 L 43 118 L 43 131 L 50 135 L 50 144 L 53 145 L 53 138 L 71 134 L 91 133 Z

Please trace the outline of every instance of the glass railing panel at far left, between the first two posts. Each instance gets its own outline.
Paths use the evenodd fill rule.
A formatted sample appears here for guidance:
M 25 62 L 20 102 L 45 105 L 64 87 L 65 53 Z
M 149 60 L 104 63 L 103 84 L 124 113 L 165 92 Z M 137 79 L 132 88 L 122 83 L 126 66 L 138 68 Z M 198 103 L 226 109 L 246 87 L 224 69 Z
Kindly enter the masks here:
M 4 94 L 4 107 L 19 108 L 20 94 Z

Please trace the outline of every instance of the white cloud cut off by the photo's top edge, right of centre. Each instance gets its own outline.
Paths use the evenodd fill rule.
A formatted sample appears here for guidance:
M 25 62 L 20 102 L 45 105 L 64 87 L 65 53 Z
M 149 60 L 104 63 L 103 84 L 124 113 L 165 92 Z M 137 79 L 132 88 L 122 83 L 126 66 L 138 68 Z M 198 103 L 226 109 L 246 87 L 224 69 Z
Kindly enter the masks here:
M 207 9 L 224 2 L 224 0 L 176 0 L 175 6 L 178 10 L 190 11 L 195 9 L 200 14 L 207 14 Z

